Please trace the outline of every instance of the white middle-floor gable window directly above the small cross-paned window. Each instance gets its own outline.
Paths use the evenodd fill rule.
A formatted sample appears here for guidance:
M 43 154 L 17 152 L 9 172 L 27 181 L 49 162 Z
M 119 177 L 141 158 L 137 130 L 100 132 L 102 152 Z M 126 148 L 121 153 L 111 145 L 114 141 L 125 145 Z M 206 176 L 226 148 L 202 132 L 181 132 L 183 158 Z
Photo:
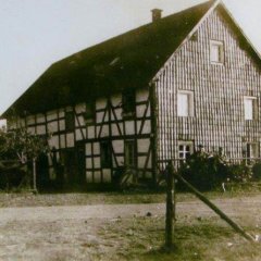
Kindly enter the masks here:
M 192 91 L 178 90 L 177 115 L 194 116 L 194 92 Z

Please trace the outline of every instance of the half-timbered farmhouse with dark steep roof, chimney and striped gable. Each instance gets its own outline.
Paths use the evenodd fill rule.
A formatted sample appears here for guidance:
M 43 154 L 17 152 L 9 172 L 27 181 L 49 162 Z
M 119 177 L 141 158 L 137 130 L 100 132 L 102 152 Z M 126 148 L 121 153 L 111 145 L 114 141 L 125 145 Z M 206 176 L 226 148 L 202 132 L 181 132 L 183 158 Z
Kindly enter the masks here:
M 156 9 L 152 23 L 52 64 L 2 116 L 51 133 L 47 178 L 111 183 L 125 164 L 156 182 L 199 146 L 260 156 L 260 61 L 221 1 Z

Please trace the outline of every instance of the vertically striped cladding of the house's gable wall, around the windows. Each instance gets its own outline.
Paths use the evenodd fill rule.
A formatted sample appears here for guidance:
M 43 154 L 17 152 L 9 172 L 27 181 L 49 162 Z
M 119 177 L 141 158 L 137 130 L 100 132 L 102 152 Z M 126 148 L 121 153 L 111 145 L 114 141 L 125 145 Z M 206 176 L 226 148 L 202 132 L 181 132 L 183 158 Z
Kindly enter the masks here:
M 178 158 L 178 140 L 191 140 L 208 151 L 223 148 L 241 158 L 244 142 L 261 141 L 260 67 L 240 47 L 238 37 L 219 10 L 172 57 L 156 82 L 158 97 L 158 162 Z M 210 41 L 224 45 L 224 63 L 210 61 Z M 177 91 L 194 92 L 194 116 L 177 116 Z M 259 119 L 246 121 L 244 96 L 258 99 Z M 171 134 L 170 134 L 171 132 Z

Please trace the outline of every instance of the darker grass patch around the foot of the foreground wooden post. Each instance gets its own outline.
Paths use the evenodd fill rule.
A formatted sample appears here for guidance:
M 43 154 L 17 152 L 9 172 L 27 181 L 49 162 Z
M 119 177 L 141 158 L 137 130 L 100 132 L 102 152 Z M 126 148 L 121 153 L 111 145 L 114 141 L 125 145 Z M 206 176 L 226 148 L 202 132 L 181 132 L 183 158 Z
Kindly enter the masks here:
M 261 260 L 261 246 L 245 241 L 231 227 L 222 224 L 219 217 L 178 221 L 171 251 L 164 248 L 163 216 L 107 223 L 100 235 L 105 241 L 114 241 L 114 249 L 111 250 L 114 259 L 119 260 Z

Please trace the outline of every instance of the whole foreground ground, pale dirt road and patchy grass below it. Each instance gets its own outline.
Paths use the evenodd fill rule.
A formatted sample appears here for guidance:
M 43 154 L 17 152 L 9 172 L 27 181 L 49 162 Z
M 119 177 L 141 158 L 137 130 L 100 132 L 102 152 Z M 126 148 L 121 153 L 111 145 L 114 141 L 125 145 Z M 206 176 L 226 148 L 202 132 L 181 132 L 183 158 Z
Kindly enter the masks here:
M 261 196 L 213 202 L 252 235 L 261 234 Z M 173 260 L 160 252 L 164 212 L 164 203 L 0 208 L 0 260 Z M 191 251 L 175 253 L 183 257 L 175 260 L 261 260 L 260 248 L 238 251 L 246 241 L 200 201 L 178 202 L 176 212 L 177 241 Z M 189 246 L 190 239 L 209 248 Z

